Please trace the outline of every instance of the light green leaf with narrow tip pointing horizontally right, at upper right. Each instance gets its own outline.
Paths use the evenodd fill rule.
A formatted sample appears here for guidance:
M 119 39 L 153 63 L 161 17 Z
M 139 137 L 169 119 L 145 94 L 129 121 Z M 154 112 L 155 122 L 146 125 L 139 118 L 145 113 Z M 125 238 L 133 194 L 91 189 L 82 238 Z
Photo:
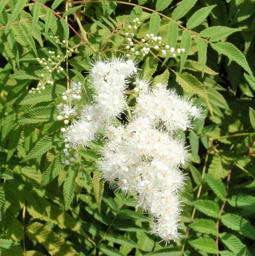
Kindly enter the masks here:
M 241 31 L 239 28 L 229 28 L 224 26 L 214 26 L 202 30 L 199 35 L 201 37 L 210 38 L 211 42 L 219 41 L 220 39 L 225 39 L 232 33 Z

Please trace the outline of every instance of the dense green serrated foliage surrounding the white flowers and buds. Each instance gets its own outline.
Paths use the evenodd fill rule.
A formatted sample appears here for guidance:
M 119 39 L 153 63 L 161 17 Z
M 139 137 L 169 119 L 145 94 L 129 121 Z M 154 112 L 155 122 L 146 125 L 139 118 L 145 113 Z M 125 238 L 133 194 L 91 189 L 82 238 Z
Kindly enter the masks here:
M 253 255 L 254 12 L 253 0 L 0 0 L 1 255 Z M 127 53 L 125 32 L 136 17 L 136 40 L 154 33 L 186 49 L 175 59 L 154 49 L 138 56 L 141 73 L 204 109 L 193 130 L 179 133 L 190 145 L 188 179 L 181 235 L 167 247 L 132 196 L 100 179 L 100 141 L 63 165 L 56 121 L 71 80 L 91 100 L 90 61 Z M 38 65 L 49 50 L 63 72 L 49 76 Z M 37 83 L 45 90 L 29 94 Z

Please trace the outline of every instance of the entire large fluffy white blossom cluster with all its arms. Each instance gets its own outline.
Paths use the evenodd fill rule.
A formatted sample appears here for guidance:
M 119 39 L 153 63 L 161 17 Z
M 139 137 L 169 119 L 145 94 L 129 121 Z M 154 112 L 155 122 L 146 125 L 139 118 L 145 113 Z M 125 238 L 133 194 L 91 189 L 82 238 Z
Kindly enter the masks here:
M 86 106 L 63 130 L 64 152 L 69 156 L 69 148 L 86 147 L 104 130 L 107 139 L 98 169 L 112 186 L 117 184 L 118 189 L 137 198 L 137 205 L 153 219 L 152 233 L 167 243 L 179 235 L 178 195 L 185 179 L 179 167 L 187 159 L 186 147 L 173 134 L 190 127 L 191 118 L 199 118 L 200 110 L 164 84 L 153 88 L 148 81 L 136 79 L 137 106 L 132 120 L 114 125 L 112 121 L 128 107 L 125 90 L 127 78 L 137 73 L 135 64 L 124 59 L 93 63 L 94 105 Z M 66 92 L 63 99 L 68 101 L 73 95 Z

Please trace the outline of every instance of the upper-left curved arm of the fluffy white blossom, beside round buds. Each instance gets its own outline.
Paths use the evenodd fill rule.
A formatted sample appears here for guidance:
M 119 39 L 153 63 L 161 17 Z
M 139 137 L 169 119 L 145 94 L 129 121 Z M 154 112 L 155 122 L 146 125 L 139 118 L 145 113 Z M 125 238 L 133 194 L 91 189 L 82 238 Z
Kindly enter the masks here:
M 86 106 L 64 131 L 66 147 L 86 147 L 98 130 L 106 129 L 108 122 L 120 115 L 125 109 L 126 78 L 136 71 L 135 63 L 123 58 L 93 64 L 90 83 L 95 90 L 95 105 Z

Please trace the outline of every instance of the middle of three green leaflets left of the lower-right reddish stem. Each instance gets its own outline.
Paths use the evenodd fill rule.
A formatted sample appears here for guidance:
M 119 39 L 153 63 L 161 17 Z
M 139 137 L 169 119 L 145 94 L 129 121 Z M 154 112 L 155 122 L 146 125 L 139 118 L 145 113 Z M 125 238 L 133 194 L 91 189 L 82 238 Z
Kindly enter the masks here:
M 218 235 L 216 223 L 212 219 L 195 219 L 189 227 L 199 233 Z

